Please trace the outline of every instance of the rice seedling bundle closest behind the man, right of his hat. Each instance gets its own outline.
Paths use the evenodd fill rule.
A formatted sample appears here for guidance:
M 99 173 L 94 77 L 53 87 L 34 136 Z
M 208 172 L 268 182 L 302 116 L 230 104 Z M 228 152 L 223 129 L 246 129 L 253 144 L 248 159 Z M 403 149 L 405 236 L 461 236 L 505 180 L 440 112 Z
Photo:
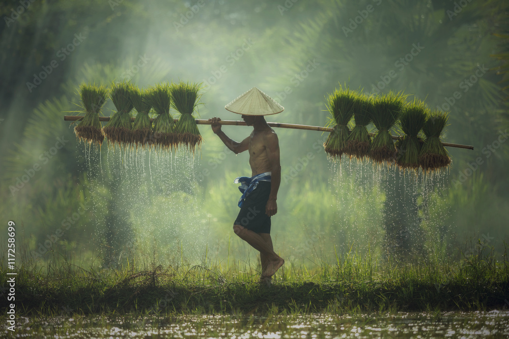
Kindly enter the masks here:
M 345 151 L 346 141 L 350 135 L 348 122 L 352 119 L 354 107 L 358 105 L 357 100 L 358 95 L 351 93 L 349 89 L 342 89 L 341 86 L 327 99 L 327 109 L 331 115 L 327 127 L 334 127 L 323 145 L 332 159 L 336 157 L 341 159 Z

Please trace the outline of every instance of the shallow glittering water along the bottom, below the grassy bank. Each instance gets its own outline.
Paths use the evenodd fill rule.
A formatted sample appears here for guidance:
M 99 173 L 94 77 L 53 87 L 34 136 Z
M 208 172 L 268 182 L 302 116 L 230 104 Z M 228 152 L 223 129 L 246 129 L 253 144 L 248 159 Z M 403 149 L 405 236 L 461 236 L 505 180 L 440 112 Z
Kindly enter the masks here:
M 509 312 L 175 317 L 20 318 L 11 336 L 52 338 L 477 338 L 509 337 Z

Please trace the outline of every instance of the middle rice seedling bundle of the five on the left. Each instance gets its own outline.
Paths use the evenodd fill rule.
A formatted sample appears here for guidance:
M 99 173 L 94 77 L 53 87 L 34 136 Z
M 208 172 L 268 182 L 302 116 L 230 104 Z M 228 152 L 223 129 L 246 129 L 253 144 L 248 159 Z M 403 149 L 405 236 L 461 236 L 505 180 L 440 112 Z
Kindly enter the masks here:
M 152 122 L 149 117 L 152 103 L 149 100 L 148 92 L 137 87 L 134 88 L 131 95 L 131 102 L 137 112 L 132 125 L 131 140 L 136 144 L 136 147 L 140 145 L 143 149 L 152 138 Z

